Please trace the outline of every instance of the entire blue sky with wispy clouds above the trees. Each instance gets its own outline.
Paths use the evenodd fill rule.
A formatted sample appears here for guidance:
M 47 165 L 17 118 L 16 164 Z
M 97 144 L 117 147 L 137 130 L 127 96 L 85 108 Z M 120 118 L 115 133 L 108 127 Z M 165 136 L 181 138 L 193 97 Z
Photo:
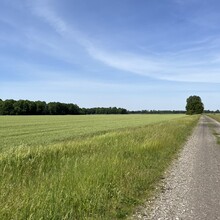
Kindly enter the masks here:
M 0 0 L 0 98 L 220 109 L 218 0 Z

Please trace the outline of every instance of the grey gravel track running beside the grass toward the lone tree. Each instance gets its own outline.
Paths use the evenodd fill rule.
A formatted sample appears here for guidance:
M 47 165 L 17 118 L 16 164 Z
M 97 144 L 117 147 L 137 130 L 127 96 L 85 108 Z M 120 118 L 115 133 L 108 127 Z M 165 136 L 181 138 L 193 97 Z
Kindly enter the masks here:
M 162 192 L 133 219 L 220 219 L 220 123 L 202 116 L 167 172 Z

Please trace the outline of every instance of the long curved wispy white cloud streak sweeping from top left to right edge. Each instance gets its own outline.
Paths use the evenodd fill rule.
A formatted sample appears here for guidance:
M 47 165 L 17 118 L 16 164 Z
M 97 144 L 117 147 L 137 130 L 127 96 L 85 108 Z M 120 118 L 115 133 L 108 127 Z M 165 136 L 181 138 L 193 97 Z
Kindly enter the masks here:
M 106 50 L 105 47 L 96 46 L 81 31 L 58 16 L 47 1 L 31 1 L 29 6 L 35 15 L 43 19 L 62 37 L 63 41 L 78 43 L 91 58 L 109 67 L 159 80 L 220 82 L 218 53 L 209 52 L 215 47 L 215 40 L 201 40 L 193 44 L 194 46 L 190 45 L 190 48 L 186 47 L 175 53 L 164 53 L 161 56 L 139 55 L 132 51 L 113 52 Z M 203 52 L 206 56 L 201 55 Z M 215 65 L 212 67 L 210 63 Z

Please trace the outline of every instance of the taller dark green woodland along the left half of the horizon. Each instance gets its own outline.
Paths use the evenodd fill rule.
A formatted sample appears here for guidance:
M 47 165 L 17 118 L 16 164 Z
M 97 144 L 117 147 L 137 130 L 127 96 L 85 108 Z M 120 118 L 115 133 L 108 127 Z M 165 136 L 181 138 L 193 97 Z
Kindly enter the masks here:
M 127 114 L 124 108 L 80 108 L 77 104 L 0 99 L 0 115 L 80 115 L 80 114 Z

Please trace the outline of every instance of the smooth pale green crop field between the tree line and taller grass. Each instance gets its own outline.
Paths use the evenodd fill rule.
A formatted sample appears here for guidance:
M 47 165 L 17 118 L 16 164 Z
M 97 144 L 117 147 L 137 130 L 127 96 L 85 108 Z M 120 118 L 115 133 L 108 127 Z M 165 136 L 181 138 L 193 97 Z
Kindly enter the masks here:
M 183 115 L 0 116 L 0 151 L 82 139 L 110 130 L 144 126 Z

